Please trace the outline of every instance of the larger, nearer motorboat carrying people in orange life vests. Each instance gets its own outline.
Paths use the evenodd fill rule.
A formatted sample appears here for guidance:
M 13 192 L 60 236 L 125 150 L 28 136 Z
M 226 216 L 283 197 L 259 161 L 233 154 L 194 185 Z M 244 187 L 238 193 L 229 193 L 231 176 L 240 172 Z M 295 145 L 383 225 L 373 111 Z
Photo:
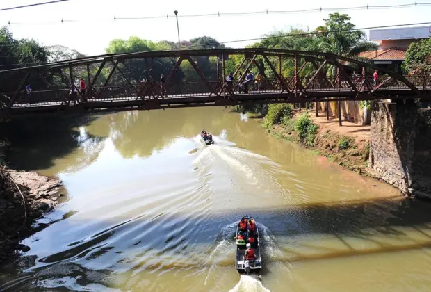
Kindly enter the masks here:
M 257 273 L 262 268 L 259 230 L 251 216 L 241 218 L 236 227 L 235 266 L 238 273 Z

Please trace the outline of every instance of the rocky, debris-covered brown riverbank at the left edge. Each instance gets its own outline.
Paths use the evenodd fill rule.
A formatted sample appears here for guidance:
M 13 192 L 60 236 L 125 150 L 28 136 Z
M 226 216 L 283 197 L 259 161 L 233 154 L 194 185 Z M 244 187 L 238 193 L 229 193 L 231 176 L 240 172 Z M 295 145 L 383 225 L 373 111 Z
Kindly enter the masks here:
M 0 167 L 0 263 L 29 251 L 19 241 L 39 230 L 32 225 L 57 205 L 60 186 L 56 177 Z

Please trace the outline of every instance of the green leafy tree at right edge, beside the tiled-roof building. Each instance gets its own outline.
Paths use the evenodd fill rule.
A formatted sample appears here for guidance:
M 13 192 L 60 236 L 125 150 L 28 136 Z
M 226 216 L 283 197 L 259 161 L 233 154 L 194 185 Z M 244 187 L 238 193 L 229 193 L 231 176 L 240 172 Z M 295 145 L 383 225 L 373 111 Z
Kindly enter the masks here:
M 405 72 L 431 71 L 431 38 L 413 42 L 405 52 L 405 62 L 402 64 Z

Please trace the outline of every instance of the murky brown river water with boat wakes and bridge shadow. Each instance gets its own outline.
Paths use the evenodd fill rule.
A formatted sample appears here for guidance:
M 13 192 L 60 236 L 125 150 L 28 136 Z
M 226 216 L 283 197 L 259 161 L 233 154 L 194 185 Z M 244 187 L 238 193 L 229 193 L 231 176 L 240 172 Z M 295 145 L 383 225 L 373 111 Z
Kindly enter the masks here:
M 13 163 L 58 175 L 68 199 L 1 267 L 0 291 L 430 290 L 428 204 L 277 140 L 258 120 L 184 108 L 65 128 L 16 130 L 39 138 L 17 139 Z M 234 269 L 245 214 L 261 232 L 260 277 Z

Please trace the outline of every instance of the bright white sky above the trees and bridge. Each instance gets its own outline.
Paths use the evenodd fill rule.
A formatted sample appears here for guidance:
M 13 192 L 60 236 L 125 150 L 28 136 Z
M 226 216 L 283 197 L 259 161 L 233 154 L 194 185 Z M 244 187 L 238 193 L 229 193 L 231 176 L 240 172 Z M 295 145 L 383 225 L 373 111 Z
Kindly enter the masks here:
M 20 6 L 47 0 L 2 0 L 0 8 Z M 431 3 L 431 0 L 417 0 Z M 302 10 L 312 8 L 345 8 L 352 6 L 382 6 L 414 3 L 413 0 L 70 0 L 66 2 L 0 11 L 0 25 L 11 22 L 15 38 L 34 38 L 45 45 L 62 44 L 83 54 L 104 54 L 113 38 L 136 35 L 147 40 L 177 42 L 177 24 L 174 17 L 162 19 L 117 20 L 115 17 L 151 17 L 159 15 L 193 15 L 205 13 L 238 13 L 261 10 Z M 284 15 L 245 15 L 221 17 L 179 18 L 181 40 L 208 35 L 220 42 L 259 38 L 265 33 L 290 26 L 310 29 L 323 24 L 325 13 L 298 13 Z M 431 22 L 431 6 L 380 10 L 342 11 L 352 17 L 358 28 L 393 24 Z M 61 19 L 76 20 L 61 24 Z M 47 22 L 54 22 L 48 23 Z M 243 47 L 250 42 L 228 44 Z

